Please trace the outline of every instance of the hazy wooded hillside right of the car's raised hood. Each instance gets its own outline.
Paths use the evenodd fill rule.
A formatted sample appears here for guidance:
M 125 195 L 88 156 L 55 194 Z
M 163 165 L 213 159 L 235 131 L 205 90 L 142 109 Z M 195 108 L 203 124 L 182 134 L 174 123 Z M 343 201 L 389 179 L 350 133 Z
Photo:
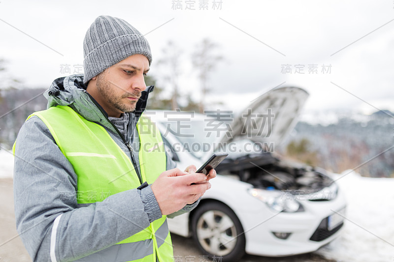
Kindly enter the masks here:
M 301 121 L 281 148 L 285 151 L 291 141 L 305 138 L 317 152 L 318 166 L 336 173 L 360 166 L 356 171 L 361 175 L 394 177 L 394 148 L 387 150 L 394 145 L 391 115 L 382 110 L 370 116 L 338 116 L 327 126 Z

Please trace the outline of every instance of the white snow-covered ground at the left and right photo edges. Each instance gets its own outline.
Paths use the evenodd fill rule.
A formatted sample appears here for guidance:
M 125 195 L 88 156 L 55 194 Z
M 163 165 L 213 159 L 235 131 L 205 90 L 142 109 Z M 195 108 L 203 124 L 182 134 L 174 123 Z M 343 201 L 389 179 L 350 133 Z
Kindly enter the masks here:
M 0 150 L 0 178 L 12 177 L 13 163 L 12 154 Z M 316 253 L 338 262 L 393 262 L 394 179 L 347 173 L 334 175 L 347 197 L 344 230 Z

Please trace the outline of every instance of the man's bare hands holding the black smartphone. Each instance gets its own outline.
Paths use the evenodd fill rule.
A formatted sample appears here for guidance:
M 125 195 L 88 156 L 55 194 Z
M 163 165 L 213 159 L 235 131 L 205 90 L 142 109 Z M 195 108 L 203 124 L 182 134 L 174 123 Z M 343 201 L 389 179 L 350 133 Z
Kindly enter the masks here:
M 163 215 L 171 214 L 186 204 L 196 202 L 211 187 L 206 181 L 216 176 L 214 170 L 209 172 L 209 179 L 204 174 L 194 172 L 196 172 L 194 165 L 186 168 L 185 172 L 178 168 L 167 170 L 152 184 L 152 192 Z M 192 183 L 196 184 L 192 185 Z

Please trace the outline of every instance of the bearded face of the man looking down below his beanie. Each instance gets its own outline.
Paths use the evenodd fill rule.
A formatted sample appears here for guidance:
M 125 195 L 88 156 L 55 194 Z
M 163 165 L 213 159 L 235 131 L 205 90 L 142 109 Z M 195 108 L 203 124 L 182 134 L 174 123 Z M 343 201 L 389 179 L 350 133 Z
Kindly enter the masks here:
M 96 88 L 88 92 L 97 100 L 108 116 L 133 112 L 146 89 L 144 75 L 149 71 L 149 61 L 143 55 L 133 55 L 112 65 L 92 80 Z

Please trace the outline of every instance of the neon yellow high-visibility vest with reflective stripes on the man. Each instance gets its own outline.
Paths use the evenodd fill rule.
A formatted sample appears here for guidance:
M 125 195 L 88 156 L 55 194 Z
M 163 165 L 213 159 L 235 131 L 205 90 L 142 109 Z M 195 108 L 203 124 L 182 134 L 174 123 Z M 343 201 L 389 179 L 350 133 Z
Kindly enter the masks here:
M 46 124 L 78 176 L 78 207 L 103 201 L 140 185 L 130 158 L 99 124 L 86 120 L 67 106 L 51 107 L 31 116 L 34 115 Z M 151 184 L 166 168 L 163 140 L 147 117 L 141 116 L 136 127 L 140 139 L 141 178 Z M 156 262 L 156 256 L 160 262 L 173 259 L 165 216 L 148 228 L 78 261 Z

